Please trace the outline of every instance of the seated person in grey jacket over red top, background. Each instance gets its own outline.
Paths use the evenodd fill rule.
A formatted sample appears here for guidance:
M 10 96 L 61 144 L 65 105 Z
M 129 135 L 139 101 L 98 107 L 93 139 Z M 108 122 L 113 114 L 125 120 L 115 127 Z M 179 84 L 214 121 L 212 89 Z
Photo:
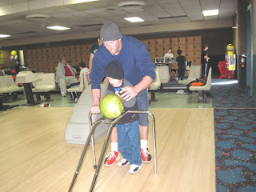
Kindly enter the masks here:
M 66 86 L 78 82 L 78 79 L 74 77 L 75 74 L 77 74 L 77 70 L 67 64 L 65 58 L 60 58 L 56 71 L 56 82 L 61 88 L 62 97 L 66 97 Z

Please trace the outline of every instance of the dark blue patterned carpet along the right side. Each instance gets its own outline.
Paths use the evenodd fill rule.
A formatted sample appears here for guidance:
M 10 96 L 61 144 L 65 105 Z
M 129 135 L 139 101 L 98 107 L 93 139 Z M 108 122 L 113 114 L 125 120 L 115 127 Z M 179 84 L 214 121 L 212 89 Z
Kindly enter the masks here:
M 256 191 L 256 99 L 238 84 L 212 86 L 217 192 Z

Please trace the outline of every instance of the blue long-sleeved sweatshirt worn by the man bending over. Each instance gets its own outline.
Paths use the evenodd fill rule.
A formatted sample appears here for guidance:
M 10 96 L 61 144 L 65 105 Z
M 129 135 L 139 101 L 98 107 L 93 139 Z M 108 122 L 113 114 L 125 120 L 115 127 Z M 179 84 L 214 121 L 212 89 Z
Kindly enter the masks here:
M 100 89 L 104 70 L 114 60 L 122 64 L 124 78 L 133 86 L 141 82 L 144 76 L 150 76 L 153 81 L 155 79 L 155 66 L 146 45 L 136 38 L 122 34 L 122 50 L 118 55 L 110 54 L 104 45 L 100 46 L 94 55 L 93 70 L 90 73 L 92 89 Z

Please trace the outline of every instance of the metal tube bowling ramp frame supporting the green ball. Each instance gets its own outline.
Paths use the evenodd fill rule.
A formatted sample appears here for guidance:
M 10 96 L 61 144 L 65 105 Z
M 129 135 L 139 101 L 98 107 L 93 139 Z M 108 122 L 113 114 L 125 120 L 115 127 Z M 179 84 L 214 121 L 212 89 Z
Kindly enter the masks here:
M 143 110 L 128 110 L 126 111 L 124 114 L 122 114 L 120 117 L 116 118 L 113 122 L 105 122 L 104 120 L 106 118 L 102 117 L 102 118 L 99 118 L 96 122 L 94 122 L 94 124 L 92 125 L 92 121 L 91 121 L 91 113 L 89 113 L 89 122 L 90 122 L 90 133 L 88 134 L 88 138 L 86 140 L 86 144 L 85 144 L 85 147 L 82 151 L 82 155 L 80 157 L 80 160 L 78 162 L 78 166 L 77 166 L 77 170 L 75 171 L 74 173 L 74 177 L 73 177 L 73 180 L 70 184 L 70 189 L 68 190 L 69 192 L 71 192 L 74 188 L 74 184 L 76 182 L 76 179 L 78 177 L 78 174 L 79 174 L 79 171 L 80 171 L 80 168 L 82 166 L 82 162 L 83 162 L 83 158 L 85 157 L 85 154 L 86 154 L 86 150 L 89 146 L 89 142 L 91 140 L 91 143 L 92 143 L 92 150 L 93 150 L 93 157 L 94 157 L 94 168 L 96 168 L 96 171 L 95 171 L 95 174 L 94 174 L 94 178 L 93 178 L 93 181 L 91 183 L 91 186 L 90 186 L 90 191 L 93 191 L 94 190 L 94 186 L 96 184 L 96 181 L 97 181 L 97 178 L 98 178 L 98 173 L 99 173 L 99 170 L 102 166 L 102 161 L 103 161 L 103 158 L 104 158 L 104 154 L 106 152 L 106 146 L 107 146 L 107 143 L 108 141 L 110 140 L 110 134 L 111 134 L 111 131 L 114 127 L 114 125 L 123 117 L 125 116 L 126 114 L 128 113 L 138 113 L 138 114 L 150 114 L 150 116 L 152 117 L 152 128 L 153 128 L 153 145 L 154 145 L 154 174 L 157 174 L 157 155 L 156 155 L 156 139 L 155 139 L 155 123 L 154 123 L 154 115 L 146 110 L 146 111 L 143 111 Z M 96 158 L 95 158 L 95 150 L 94 150 L 94 138 L 93 138 L 93 134 L 94 134 L 94 130 L 96 128 L 96 126 L 98 126 L 99 123 L 101 122 L 104 122 L 104 123 L 109 123 L 110 124 L 110 128 L 106 134 L 106 140 L 104 142 L 104 145 L 102 147 L 102 153 L 100 155 L 100 158 L 98 160 L 98 166 L 96 166 Z

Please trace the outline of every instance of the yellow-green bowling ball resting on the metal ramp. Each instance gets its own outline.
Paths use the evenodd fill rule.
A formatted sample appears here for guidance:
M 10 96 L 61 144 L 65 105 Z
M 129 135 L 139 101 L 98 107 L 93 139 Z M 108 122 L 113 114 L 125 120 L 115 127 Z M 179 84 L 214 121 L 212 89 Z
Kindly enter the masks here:
M 124 110 L 122 98 L 116 94 L 107 94 L 99 103 L 99 109 L 105 118 L 118 118 Z

